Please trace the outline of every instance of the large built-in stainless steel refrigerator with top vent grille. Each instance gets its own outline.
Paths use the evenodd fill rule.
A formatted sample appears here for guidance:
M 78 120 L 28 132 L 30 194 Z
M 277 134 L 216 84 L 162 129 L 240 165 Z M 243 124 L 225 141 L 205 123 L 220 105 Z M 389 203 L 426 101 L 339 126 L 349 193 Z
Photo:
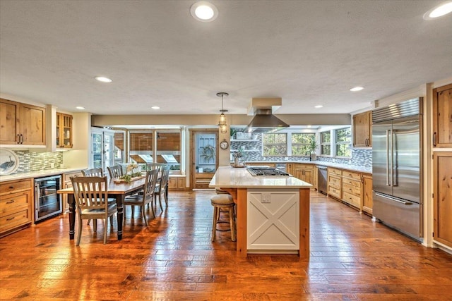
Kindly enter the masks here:
M 372 112 L 373 215 L 422 241 L 422 98 Z

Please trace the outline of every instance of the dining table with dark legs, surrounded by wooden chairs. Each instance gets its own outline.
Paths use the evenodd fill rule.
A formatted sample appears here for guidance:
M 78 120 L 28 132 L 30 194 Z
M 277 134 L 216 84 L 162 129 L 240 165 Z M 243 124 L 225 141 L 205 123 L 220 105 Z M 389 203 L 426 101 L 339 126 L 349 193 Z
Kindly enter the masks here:
M 118 240 L 122 239 L 122 223 L 124 220 L 124 199 L 128 195 L 133 195 L 143 190 L 145 176 L 136 177 L 130 183 L 119 183 L 118 180 L 110 178 L 108 180 L 108 197 L 116 199 L 118 209 Z M 73 195 L 73 188 L 64 188 L 57 191 L 60 195 L 67 195 L 69 204 L 69 239 L 74 239 L 76 226 L 76 202 Z

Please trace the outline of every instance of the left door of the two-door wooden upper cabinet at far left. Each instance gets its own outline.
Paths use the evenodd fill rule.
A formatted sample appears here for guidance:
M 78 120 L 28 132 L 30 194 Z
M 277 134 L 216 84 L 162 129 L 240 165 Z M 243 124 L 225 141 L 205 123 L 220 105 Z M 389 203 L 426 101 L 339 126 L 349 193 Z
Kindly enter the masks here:
M 16 145 L 18 143 L 19 103 L 0 99 L 0 143 L 4 145 Z

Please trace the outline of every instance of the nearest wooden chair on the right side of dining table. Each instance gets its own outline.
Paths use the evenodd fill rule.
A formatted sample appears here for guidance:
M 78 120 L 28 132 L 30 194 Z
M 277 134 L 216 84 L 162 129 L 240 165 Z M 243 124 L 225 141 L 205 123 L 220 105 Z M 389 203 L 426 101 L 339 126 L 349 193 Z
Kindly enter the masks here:
M 126 217 L 126 205 L 129 205 L 132 208 L 133 208 L 133 206 L 140 206 L 141 214 L 143 215 L 144 222 L 145 222 L 146 226 L 148 226 L 148 220 L 146 219 L 146 214 L 145 214 L 144 209 L 145 209 L 146 204 L 151 204 L 153 216 L 155 217 L 155 210 L 153 207 L 153 198 L 154 198 L 155 184 L 157 183 L 157 178 L 158 178 L 158 169 L 146 171 L 146 180 L 145 180 L 144 189 L 143 189 L 144 193 L 130 195 L 129 197 L 126 197 L 124 199 L 124 219 Z M 133 219 L 133 211 L 132 211 L 131 218 Z

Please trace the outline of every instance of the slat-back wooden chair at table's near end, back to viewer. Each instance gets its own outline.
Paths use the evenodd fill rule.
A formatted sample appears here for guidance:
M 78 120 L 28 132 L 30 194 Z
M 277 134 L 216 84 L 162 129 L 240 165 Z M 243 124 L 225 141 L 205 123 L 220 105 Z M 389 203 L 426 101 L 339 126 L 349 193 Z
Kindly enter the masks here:
M 108 219 L 117 213 L 116 202 L 108 202 L 107 177 L 71 177 L 71 182 L 78 211 L 76 245 L 80 245 L 83 219 L 94 220 L 94 232 L 97 231 L 97 219 L 104 221 L 105 245 L 107 243 Z

